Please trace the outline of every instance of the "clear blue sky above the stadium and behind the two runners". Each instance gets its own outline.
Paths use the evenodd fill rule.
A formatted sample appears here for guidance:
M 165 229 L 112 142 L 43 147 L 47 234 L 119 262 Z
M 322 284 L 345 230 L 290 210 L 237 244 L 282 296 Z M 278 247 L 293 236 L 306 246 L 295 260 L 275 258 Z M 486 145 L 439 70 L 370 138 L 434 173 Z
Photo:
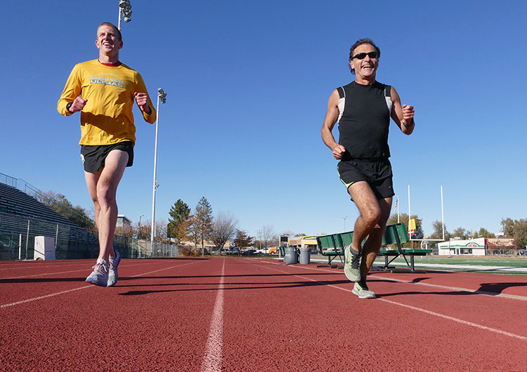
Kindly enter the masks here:
M 377 80 L 415 106 L 415 133 L 391 124 L 401 212 L 491 232 L 527 218 L 525 1 L 139 1 L 120 60 L 141 72 L 160 109 L 156 220 L 206 197 L 256 235 L 352 229 L 358 213 L 320 138 L 327 99 L 348 84 L 349 47 L 372 38 Z M 45 6 L 45 8 L 44 8 Z M 10 1 L 0 29 L 0 173 L 91 210 L 79 115 L 57 100 L 72 67 L 98 57 L 96 27 L 118 1 Z M 155 126 L 137 126 L 119 213 L 151 218 Z M 334 135 L 338 138 L 337 128 Z

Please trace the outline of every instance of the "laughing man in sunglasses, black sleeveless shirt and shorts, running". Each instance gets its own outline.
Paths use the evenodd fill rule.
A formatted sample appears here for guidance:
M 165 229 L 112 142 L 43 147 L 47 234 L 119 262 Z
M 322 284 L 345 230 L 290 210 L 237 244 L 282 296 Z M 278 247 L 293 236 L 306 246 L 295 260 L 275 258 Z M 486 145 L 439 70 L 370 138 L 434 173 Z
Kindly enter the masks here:
M 353 293 L 359 298 L 375 298 L 366 276 L 381 248 L 394 195 L 388 146 L 390 118 L 406 135 L 415 128 L 414 108 L 401 106 L 395 88 L 375 80 L 380 55 L 371 39 L 360 39 L 351 46 L 349 65 L 355 80 L 333 91 L 322 126 L 324 143 L 339 160 L 340 180 L 360 213 L 353 241 L 344 247 L 344 274 L 356 282 Z M 332 135 L 337 121 L 338 143 Z

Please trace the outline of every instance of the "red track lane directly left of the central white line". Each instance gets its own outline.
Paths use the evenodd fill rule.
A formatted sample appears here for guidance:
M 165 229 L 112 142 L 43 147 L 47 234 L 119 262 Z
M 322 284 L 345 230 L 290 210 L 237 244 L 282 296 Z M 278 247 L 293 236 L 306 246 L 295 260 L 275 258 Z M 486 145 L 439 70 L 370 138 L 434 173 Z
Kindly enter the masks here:
M 209 261 L 124 266 L 124 280 L 113 288 L 89 286 L 0 310 L 0 345 L 11 351 L 2 365 L 34 371 L 199 368 L 221 275 Z M 35 352 L 25 352 L 28 347 Z

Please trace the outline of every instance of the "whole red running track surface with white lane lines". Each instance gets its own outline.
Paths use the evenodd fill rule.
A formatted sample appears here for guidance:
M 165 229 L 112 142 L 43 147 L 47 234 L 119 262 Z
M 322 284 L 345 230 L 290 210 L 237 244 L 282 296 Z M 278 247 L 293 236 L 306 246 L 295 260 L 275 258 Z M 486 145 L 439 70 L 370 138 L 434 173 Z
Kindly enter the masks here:
M 257 258 L 0 263 L 2 371 L 526 371 L 527 277 Z

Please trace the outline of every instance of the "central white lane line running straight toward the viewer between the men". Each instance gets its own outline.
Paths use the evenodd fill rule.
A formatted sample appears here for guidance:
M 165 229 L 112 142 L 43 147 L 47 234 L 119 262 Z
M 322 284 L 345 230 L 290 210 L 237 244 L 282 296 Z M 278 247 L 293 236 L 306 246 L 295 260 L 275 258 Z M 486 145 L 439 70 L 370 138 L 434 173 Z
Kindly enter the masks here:
M 221 279 L 216 295 L 216 303 L 212 312 L 209 338 L 205 346 L 205 354 L 201 364 L 202 372 L 219 372 L 223 361 L 223 285 L 225 281 L 225 258 L 221 267 Z

